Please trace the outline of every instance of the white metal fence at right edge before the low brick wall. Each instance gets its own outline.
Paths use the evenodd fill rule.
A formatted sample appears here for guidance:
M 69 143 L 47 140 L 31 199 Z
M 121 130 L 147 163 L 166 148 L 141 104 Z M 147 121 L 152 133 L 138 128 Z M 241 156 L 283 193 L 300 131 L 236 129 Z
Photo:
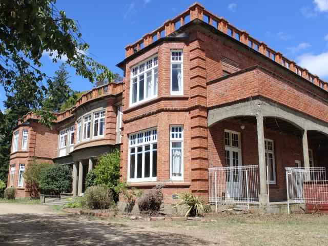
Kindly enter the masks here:
M 328 182 L 324 167 L 285 168 L 287 202 L 328 204 Z

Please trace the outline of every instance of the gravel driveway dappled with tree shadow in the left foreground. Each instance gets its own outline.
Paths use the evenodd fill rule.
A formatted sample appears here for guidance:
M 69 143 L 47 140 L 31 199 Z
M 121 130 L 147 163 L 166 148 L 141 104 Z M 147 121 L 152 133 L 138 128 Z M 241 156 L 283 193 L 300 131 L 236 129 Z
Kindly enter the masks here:
M 146 221 L 145 221 L 146 223 Z M 151 232 L 142 223 L 68 215 L 0 215 L 0 245 L 209 245 L 182 234 Z

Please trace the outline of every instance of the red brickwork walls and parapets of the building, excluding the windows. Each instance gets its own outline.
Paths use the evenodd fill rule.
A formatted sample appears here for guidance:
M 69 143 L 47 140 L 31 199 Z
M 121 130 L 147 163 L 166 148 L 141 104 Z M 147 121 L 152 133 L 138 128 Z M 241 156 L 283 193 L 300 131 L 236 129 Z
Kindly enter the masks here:
M 190 22 L 186 23 L 188 15 Z M 208 16 L 208 23 L 203 22 L 204 16 Z M 181 27 L 175 25 L 177 22 L 181 23 Z M 162 32 L 165 36 L 160 36 Z M 142 43 L 144 48 L 141 49 Z M 59 130 L 74 124 L 76 133 L 77 117 L 83 114 L 80 112 L 87 113 L 86 110 L 92 109 L 92 105 L 102 101 L 106 104 L 104 138 L 80 143 L 75 139 L 74 151 L 91 153 L 91 148 L 117 145 L 117 106 L 121 105 L 122 137 L 117 145 L 121 153 L 120 179 L 124 181 L 128 178 L 129 135 L 157 128 L 156 181 L 131 182 L 129 187 L 147 190 L 161 183 L 165 185 L 164 201 L 169 204 L 176 203 L 173 196 L 181 192 L 192 192 L 208 200 L 208 168 L 226 165 L 225 129 L 240 133 L 242 165 L 259 164 L 256 118 L 236 115 L 208 127 L 210 110 L 261 98 L 328 129 L 326 81 L 198 3 L 146 33 L 136 43 L 126 46 L 125 50 L 126 58 L 117 64 L 124 71 L 122 83 L 87 92 L 72 109 L 56 115 L 52 129 L 40 125 L 31 114 L 20 122 L 17 126 L 20 133 L 18 147 L 23 129 L 29 129 L 29 142 L 28 151 L 11 154 L 10 163 L 16 165 L 15 184 L 19 163 L 27 165 L 33 157 L 56 161 Z M 183 95 L 171 95 L 170 92 L 173 50 L 183 52 Z M 131 69 L 154 55 L 158 57 L 157 97 L 131 106 Z M 300 160 L 304 166 L 302 129 L 284 119 L 264 117 L 263 122 L 264 137 L 274 141 L 276 183 L 269 185 L 270 200 L 283 201 L 286 200 L 285 167 L 294 167 L 295 160 Z M 169 131 L 173 125 L 183 125 L 184 130 L 183 181 L 170 180 Z M 245 126 L 243 130 L 241 125 Z M 309 131 L 308 139 L 314 165 L 326 167 L 327 137 Z M 18 195 L 29 194 L 26 189 L 20 189 Z

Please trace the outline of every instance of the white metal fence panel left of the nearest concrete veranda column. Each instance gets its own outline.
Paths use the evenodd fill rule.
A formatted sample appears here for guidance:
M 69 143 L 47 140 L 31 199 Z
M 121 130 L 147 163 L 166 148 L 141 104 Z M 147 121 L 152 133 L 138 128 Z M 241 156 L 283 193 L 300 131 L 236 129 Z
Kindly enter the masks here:
M 259 203 L 258 165 L 209 168 L 209 202 Z

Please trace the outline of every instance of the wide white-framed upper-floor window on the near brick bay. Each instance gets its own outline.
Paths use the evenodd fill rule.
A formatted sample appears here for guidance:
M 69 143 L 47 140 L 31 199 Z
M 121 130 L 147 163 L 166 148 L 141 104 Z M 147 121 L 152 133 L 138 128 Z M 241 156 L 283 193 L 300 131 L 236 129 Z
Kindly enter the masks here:
M 151 61 L 151 63 L 149 63 Z M 155 81 L 155 70 L 157 71 L 157 81 Z M 151 95 L 147 97 L 147 73 L 151 72 Z M 141 75 L 144 75 L 144 99 L 139 100 L 139 78 Z M 133 103 L 133 80 L 137 79 L 137 95 L 136 101 Z M 156 90 L 155 90 L 156 89 Z M 130 107 L 142 104 L 145 101 L 156 98 L 158 94 L 158 55 L 154 55 L 148 58 L 142 63 L 139 63 L 136 66 L 131 67 L 131 79 L 130 79 Z

